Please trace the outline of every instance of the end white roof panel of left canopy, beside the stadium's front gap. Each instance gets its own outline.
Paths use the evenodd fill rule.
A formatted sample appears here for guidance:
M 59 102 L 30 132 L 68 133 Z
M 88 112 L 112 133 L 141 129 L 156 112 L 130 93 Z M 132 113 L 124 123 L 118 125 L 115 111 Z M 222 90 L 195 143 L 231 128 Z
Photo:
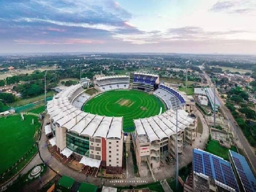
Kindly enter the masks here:
M 110 129 L 108 131 L 107 138 L 119 138 L 119 139 L 121 139 L 122 124 L 123 124 L 123 118 L 122 117 L 113 117 Z

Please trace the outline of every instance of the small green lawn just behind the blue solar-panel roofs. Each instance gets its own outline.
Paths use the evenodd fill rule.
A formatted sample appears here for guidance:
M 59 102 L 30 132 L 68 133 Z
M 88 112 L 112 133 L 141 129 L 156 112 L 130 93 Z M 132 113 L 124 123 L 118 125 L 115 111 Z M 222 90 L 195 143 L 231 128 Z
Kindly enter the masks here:
M 237 152 L 235 146 L 231 146 L 230 150 Z M 210 140 L 206 151 L 208 151 L 209 153 L 212 153 L 214 155 L 220 156 L 225 160 L 228 160 L 228 151 L 229 151 L 229 149 L 227 149 L 223 146 L 220 146 L 219 142 L 217 142 L 213 139 Z

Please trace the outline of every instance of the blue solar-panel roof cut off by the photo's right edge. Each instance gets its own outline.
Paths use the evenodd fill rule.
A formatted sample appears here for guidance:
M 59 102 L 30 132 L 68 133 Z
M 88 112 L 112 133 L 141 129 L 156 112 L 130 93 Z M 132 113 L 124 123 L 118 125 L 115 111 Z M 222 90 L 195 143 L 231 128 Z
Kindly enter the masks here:
M 244 156 L 229 150 L 229 154 L 235 164 L 235 169 L 238 172 L 244 190 L 256 192 L 256 179 L 252 174 L 250 166 L 248 165 Z

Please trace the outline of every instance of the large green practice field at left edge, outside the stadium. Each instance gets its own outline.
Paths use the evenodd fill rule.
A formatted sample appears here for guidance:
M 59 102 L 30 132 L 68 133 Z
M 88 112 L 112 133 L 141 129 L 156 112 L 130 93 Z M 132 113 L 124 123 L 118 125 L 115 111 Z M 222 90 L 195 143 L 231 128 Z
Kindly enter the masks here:
M 34 119 L 34 125 L 31 125 Z M 34 134 L 40 127 L 35 116 L 7 116 L 0 118 L 0 175 L 15 164 L 32 147 Z

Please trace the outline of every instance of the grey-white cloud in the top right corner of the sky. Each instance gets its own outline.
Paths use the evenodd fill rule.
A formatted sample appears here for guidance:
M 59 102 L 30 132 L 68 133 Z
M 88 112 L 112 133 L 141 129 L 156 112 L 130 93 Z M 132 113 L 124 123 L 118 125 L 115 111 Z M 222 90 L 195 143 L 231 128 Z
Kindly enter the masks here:
M 251 14 L 255 15 L 256 2 L 254 0 L 219 0 L 209 11 L 225 12 L 228 14 Z

